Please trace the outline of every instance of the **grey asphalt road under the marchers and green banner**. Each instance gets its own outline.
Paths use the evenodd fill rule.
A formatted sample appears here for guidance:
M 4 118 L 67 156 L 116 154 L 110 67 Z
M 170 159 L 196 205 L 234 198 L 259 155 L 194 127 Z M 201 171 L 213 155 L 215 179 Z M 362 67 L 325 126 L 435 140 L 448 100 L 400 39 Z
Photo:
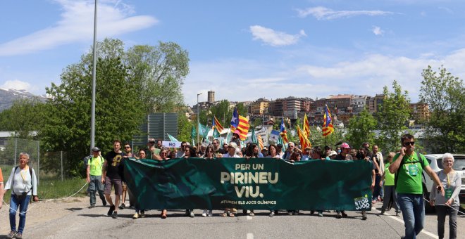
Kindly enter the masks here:
M 376 205 L 379 208 L 380 205 Z M 159 210 L 150 210 L 147 217 L 132 219 L 133 209 L 118 212 L 118 219 L 106 216 L 109 207 L 73 208 L 74 212 L 61 219 L 27 228 L 27 238 L 400 238 L 404 235 L 402 217 L 393 209 L 380 216 L 378 209 L 368 212 L 368 219 L 361 220 L 359 212 L 347 212 L 348 218 L 336 219 L 334 212 L 325 212 L 324 217 L 304 211 L 289 216 L 280 212 L 268 217 L 266 211 L 256 211 L 255 217 L 221 217 L 222 211 L 213 211 L 213 217 L 184 216 L 181 210 L 168 211 L 168 218 L 161 219 Z M 242 212 L 242 210 L 240 211 Z M 457 219 L 458 238 L 465 238 L 465 217 Z M 436 216 L 426 216 L 425 229 L 418 238 L 438 238 Z M 446 235 L 449 228 L 446 221 Z

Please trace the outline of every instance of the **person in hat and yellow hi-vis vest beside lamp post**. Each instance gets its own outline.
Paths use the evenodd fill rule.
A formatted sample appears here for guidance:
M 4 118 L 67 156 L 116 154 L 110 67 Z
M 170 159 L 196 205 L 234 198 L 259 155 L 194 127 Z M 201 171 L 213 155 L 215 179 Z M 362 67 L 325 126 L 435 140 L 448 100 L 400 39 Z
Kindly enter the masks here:
M 104 165 L 104 158 L 100 155 L 100 149 L 97 147 L 92 148 L 92 157 L 87 160 L 87 183 L 89 183 L 90 207 L 95 207 L 95 191 L 99 192 L 101 202 L 106 205 L 104 195 L 104 185 L 101 183 L 101 169 Z

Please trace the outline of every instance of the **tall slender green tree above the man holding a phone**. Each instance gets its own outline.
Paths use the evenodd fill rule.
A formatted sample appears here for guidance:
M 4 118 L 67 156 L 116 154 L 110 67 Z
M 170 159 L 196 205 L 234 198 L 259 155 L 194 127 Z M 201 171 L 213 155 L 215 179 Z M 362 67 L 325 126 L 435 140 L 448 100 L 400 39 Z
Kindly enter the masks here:
M 400 136 L 407 129 L 407 120 L 410 117 L 409 93 L 404 91 L 397 81 L 392 82 L 394 92 L 389 92 L 384 86 L 385 96 L 378 112 L 378 125 L 380 136 L 378 145 L 389 151 L 397 151 L 400 146 Z

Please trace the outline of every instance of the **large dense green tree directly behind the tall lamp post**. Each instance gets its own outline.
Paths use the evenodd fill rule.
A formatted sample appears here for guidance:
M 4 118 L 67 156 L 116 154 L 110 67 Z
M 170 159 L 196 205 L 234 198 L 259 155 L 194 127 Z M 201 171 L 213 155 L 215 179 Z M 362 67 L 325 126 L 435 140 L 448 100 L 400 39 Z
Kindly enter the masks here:
M 61 84 L 46 88 L 51 99 L 41 133 L 44 148 L 68 151 L 72 174 L 79 172 L 80 159 L 89 154 L 92 65 L 85 59 L 66 67 Z M 130 141 L 140 133 L 144 111 L 137 87 L 120 58 L 97 60 L 95 143 L 102 152 L 112 150 L 114 139 Z

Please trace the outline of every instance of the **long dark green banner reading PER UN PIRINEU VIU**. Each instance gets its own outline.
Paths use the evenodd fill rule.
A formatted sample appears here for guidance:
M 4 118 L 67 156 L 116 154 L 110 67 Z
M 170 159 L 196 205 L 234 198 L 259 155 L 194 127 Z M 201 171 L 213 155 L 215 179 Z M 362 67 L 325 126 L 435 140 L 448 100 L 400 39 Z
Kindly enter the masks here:
M 131 158 L 123 164 L 142 209 L 371 208 L 371 162 Z

